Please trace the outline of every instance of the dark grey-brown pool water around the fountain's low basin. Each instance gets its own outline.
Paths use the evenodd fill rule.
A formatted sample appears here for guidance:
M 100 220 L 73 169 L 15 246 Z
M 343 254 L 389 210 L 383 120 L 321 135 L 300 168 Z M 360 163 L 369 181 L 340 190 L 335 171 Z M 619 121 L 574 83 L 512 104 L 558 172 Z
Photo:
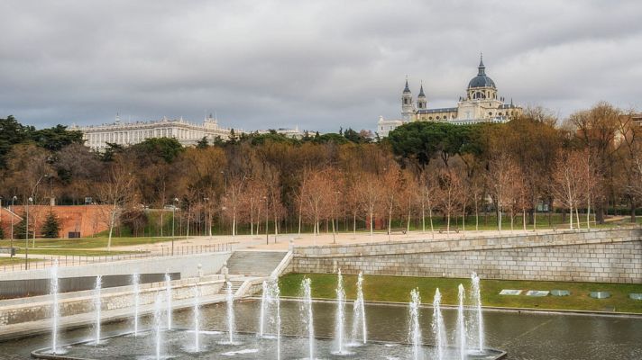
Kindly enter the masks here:
M 305 323 L 300 320 L 300 302 L 282 302 L 282 333 L 307 336 Z M 234 309 L 239 331 L 258 331 L 260 302 L 242 301 Z M 346 320 L 353 318 L 352 307 L 346 307 Z M 424 342 L 434 344 L 430 331 L 432 309 L 422 308 L 421 326 Z M 335 331 L 335 304 L 315 302 L 315 331 L 317 337 L 333 337 Z M 445 309 L 444 321 L 449 342 L 454 342 L 456 310 Z M 368 337 L 381 341 L 408 341 L 408 307 L 366 304 Z M 203 306 L 202 329 L 225 329 L 225 304 Z M 192 313 L 176 311 L 174 324 L 189 327 Z M 141 329 L 151 328 L 151 319 L 143 317 Z M 484 324 L 488 347 L 500 348 L 513 360 L 550 359 L 616 359 L 642 358 L 642 319 L 600 316 L 530 314 L 517 312 L 485 311 Z M 104 324 L 103 335 L 114 335 L 132 330 L 133 320 Z M 60 343 L 93 338 L 91 328 L 61 331 Z M 26 359 L 31 350 L 50 347 L 50 336 L 37 336 L 0 343 L 1 359 Z M 303 356 L 302 356 L 303 357 Z

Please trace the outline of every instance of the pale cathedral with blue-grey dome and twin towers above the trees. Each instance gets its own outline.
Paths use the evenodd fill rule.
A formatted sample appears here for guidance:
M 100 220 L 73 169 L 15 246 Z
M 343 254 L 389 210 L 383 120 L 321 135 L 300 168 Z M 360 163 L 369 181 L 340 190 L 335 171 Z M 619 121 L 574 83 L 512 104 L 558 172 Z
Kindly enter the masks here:
M 512 99 L 510 103 L 505 103 L 505 98 L 497 93 L 495 82 L 486 75 L 483 58 L 480 58 L 477 67 L 477 76 L 468 83 L 466 94 L 460 96 L 456 107 L 429 109 L 423 84 L 419 87 L 415 103 L 407 79 L 401 93 L 401 119 L 386 120 L 380 117 L 377 132 L 381 136 L 388 136 L 390 130 L 409 121 L 445 121 L 456 125 L 506 122 L 522 113 L 522 108 L 515 105 Z

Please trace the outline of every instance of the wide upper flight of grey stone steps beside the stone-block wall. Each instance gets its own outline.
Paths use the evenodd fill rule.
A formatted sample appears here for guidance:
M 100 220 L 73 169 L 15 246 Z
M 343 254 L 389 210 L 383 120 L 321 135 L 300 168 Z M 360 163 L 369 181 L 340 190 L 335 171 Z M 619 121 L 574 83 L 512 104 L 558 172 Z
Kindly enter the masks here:
M 234 251 L 227 260 L 227 269 L 230 275 L 270 276 L 286 254 L 286 251 Z

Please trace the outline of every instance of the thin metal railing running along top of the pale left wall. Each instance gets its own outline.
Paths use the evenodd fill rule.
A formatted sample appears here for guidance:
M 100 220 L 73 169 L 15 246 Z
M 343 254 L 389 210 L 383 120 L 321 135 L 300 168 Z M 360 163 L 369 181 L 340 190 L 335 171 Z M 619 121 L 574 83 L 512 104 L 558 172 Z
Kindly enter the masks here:
M 82 266 L 90 264 L 104 264 L 116 261 L 135 260 L 153 257 L 180 257 L 186 255 L 198 255 L 218 252 L 228 252 L 234 250 L 234 245 L 238 242 L 225 242 L 219 244 L 206 245 L 183 245 L 174 248 L 172 254 L 170 247 L 161 247 L 161 251 L 140 251 L 127 254 L 105 255 L 105 256 L 78 256 L 78 255 L 60 255 L 60 256 L 38 256 L 29 259 L 29 270 L 46 269 L 58 262 L 58 266 Z M 16 260 L 12 265 L 0 266 L 0 273 L 23 271 L 24 259 L 20 254 L 14 257 Z M 22 261 L 21 261 L 22 260 Z

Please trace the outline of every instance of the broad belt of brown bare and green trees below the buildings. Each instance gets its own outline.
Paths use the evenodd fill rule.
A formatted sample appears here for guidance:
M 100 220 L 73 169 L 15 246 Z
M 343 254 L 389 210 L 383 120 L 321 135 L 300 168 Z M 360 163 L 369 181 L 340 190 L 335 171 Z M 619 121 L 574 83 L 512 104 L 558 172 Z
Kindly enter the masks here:
M 350 219 L 353 231 L 361 221 L 372 231 L 373 219 L 389 229 L 393 221 L 434 229 L 434 214 L 450 229 L 466 217 L 478 226 L 482 211 L 495 211 L 498 227 L 506 216 L 511 228 L 521 218 L 526 229 L 537 226 L 537 209 L 554 206 L 570 227 L 588 227 L 614 207 L 628 207 L 635 219 L 642 196 L 635 119 L 598 103 L 561 125 L 536 108 L 506 124 L 412 122 L 378 141 L 353 130 L 305 139 L 272 132 L 213 145 L 204 139 L 197 148 L 148 139 L 102 154 L 73 140 L 52 149 L 24 138 L 6 151 L 0 195 L 41 203 L 90 197 L 109 205 L 110 234 L 117 224 L 142 227 L 144 207 L 171 206 L 187 218 L 187 234 L 211 231 L 215 220 L 234 235 L 240 226 L 278 234 L 285 223 L 315 233 L 325 223 L 335 232 L 339 219 Z M 158 212 L 161 224 L 165 212 Z

